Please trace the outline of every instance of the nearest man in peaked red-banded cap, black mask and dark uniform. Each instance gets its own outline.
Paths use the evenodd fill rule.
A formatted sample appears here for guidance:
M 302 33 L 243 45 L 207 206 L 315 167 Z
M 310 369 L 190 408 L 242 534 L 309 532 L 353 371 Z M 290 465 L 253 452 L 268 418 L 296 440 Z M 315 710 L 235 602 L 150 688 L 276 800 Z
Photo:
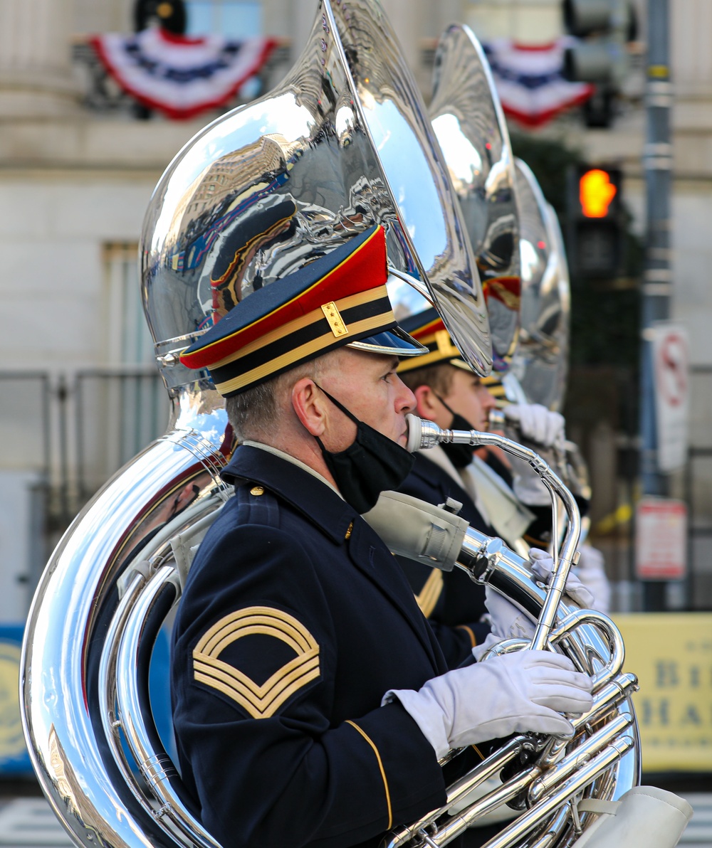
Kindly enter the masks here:
M 182 361 L 210 369 L 240 444 L 174 628 L 182 778 L 222 845 L 377 845 L 446 800 L 438 760 L 518 730 L 567 735 L 591 680 L 521 651 L 447 672 L 362 520 L 412 466 L 373 227 L 238 303 Z M 447 767 L 446 767 L 447 768 Z

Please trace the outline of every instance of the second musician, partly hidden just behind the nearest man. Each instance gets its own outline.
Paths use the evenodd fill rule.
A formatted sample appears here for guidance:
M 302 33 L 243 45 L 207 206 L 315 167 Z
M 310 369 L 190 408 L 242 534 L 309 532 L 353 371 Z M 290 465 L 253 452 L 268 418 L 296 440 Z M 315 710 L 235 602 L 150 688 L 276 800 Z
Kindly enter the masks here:
M 479 377 L 463 360 L 437 311 L 429 309 L 410 315 L 401 321 L 401 326 L 428 348 L 427 354 L 401 360 L 398 366 L 399 376 L 415 396 L 417 415 L 445 429 L 487 431 L 490 410 L 497 404 L 496 392 L 489 388 L 491 378 Z M 519 420 L 524 437 L 543 447 L 563 438 L 563 416 L 541 404 L 511 404 L 508 414 Z M 468 444 L 442 444 L 418 451 L 400 491 L 434 505 L 444 504 L 448 498 L 456 500 L 462 504 L 458 515 L 471 527 L 489 536 L 501 536 L 521 555 L 527 555 L 530 545 L 546 547 L 542 537 L 551 528 L 548 507 L 541 510 L 538 503 L 522 503 L 518 497 L 521 492 L 515 494 L 511 488 L 511 475 L 500 477 L 474 456 L 474 450 Z M 507 475 L 505 466 L 496 457 L 495 461 L 496 468 Z M 531 483 L 529 486 L 532 488 Z M 540 493 L 536 490 L 534 494 L 536 500 Z M 546 489 L 543 494 L 548 501 Z M 539 557 L 535 569 L 545 562 L 543 553 L 534 554 L 535 561 Z M 472 583 L 458 569 L 443 573 L 404 557 L 399 557 L 399 561 L 418 604 L 429 617 L 448 665 L 457 667 L 490 633 L 490 625 L 485 623 L 489 617 L 485 587 Z M 546 561 L 548 567 L 548 558 Z M 596 604 L 589 585 L 581 585 L 574 574 L 569 575 L 567 591 L 581 606 Z M 490 606 L 501 603 L 498 596 L 490 600 Z M 524 616 L 517 621 L 522 631 L 518 635 L 530 635 Z

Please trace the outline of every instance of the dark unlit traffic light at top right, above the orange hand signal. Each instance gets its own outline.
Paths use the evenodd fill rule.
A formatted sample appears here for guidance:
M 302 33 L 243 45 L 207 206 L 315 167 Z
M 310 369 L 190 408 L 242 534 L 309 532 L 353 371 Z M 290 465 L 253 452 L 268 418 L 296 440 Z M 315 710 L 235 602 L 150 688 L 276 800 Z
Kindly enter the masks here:
M 629 71 L 627 43 L 636 38 L 630 0 L 563 0 L 563 25 L 581 39 L 563 54 L 563 76 L 591 82 L 596 91 L 584 104 L 588 126 L 610 126 L 614 101 Z

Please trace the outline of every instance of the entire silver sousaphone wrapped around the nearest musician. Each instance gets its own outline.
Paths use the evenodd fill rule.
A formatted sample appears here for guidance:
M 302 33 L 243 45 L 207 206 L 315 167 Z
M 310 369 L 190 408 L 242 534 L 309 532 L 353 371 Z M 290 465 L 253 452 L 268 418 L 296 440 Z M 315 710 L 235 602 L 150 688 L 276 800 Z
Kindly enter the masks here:
M 349 24 L 344 6 L 341 14 Z M 476 270 L 468 265 L 457 214 L 440 196 L 439 186 L 447 181 L 435 181 L 438 205 L 428 215 L 438 239 L 421 247 L 418 226 L 401 209 L 401 187 L 399 203 L 393 200 L 391 174 L 373 143 L 373 127 L 363 118 L 367 108 L 361 105 L 356 82 L 361 76 L 355 73 L 361 66 L 357 55 L 346 61 L 345 46 L 353 51 L 378 45 L 388 55 L 388 63 L 378 63 L 381 87 L 368 89 L 376 103 L 397 106 L 400 118 L 393 109 L 379 113 L 384 126 L 392 118 L 393 130 L 405 131 L 409 114 L 412 126 L 427 129 L 427 121 L 412 114 L 415 101 L 405 98 L 399 104 L 395 80 L 406 80 L 405 65 L 396 42 L 390 36 L 384 42 L 379 8 L 369 3 L 350 8 L 358 38 L 349 40 L 346 26 L 342 33 L 324 3 L 305 52 L 283 84 L 189 142 L 149 206 L 143 294 L 171 395 L 171 429 L 82 510 L 42 576 L 25 629 L 25 736 L 42 789 L 76 845 L 215 846 L 185 803 L 166 754 L 170 740 L 156 729 L 148 697 L 157 633 L 180 598 L 193 551 L 230 496 L 219 476 L 232 449 L 222 401 L 205 374 L 178 363 L 180 350 L 256 287 L 378 222 L 386 229 L 395 273 L 412 278 L 439 306 L 443 294 L 448 328 L 459 338 L 467 327 L 467 338 L 458 343 L 475 367 L 488 368 Z M 395 76 L 396 69 L 401 76 Z M 365 77 L 364 84 L 371 85 Z M 437 151 L 436 144 L 422 148 L 420 161 L 431 180 Z M 426 174 L 412 169 L 414 180 Z M 621 677 L 620 648 L 608 639 L 608 631 L 597 635 L 590 617 L 572 628 L 568 611 L 547 602 L 547 594 L 514 555 L 495 555 L 485 538 L 470 541 L 463 563 L 476 565 L 477 574 L 472 573 L 478 579 L 495 585 L 534 617 L 546 606 L 554 618 L 552 632 L 569 656 L 580 667 L 605 669 L 606 681 L 611 678 L 602 678 L 596 711 L 579 728 L 581 740 L 588 739 L 589 728 L 595 735 L 585 749 L 595 765 L 582 782 L 579 776 L 576 789 L 569 782 L 569 752 L 552 750 L 546 740 L 518 739 L 497 760 L 519 762 L 534 744 L 540 753 L 544 746 L 545 759 L 559 766 L 556 772 L 541 768 L 542 780 L 528 790 L 535 805 L 540 799 L 545 805 L 539 808 L 543 812 L 534 806 L 527 814 L 540 839 L 541 828 L 554 820 L 560 828 L 569 826 L 566 804 L 575 793 L 591 792 L 593 786 L 608 797 L 613 786 L 631 784 L 630 774 L 609 773 L 601 763 L 619 759 L 626 746 L 634 745 L 635 734 L 621 729 L 631 726 L 631 718 L 619 706 L 633 681 Z M 564 622 L 569 622 L 565 630 Z M 586 628 L 592 628 L 589 638 Z M 616 717 L 614 726 L 609 715 Z M 618 747 L 608 744 L 611 739 Z M 575 759 L 576 751 L 571 754 Z M 479 777 L 468 779 L 476 783 Z M 529 785 L 521 774 L 516 779 L 523 789 Z M 527 839 L 531 832 L 529 824 L 522 831 Z M 418 830 L 414 835 L 423 844 Z

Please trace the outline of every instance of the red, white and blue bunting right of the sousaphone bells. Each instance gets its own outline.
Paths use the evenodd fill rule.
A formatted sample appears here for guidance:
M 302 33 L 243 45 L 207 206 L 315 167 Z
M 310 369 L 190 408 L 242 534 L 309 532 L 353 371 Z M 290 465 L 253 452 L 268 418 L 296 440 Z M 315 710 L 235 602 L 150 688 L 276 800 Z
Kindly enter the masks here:
M 482 45 L 505 114 L 524 126 L 541 126 L 591 97 L 593 86 L 563 79 L 563 51 L 574 43 L 564 36 L 537 46 L 510 38 Z

